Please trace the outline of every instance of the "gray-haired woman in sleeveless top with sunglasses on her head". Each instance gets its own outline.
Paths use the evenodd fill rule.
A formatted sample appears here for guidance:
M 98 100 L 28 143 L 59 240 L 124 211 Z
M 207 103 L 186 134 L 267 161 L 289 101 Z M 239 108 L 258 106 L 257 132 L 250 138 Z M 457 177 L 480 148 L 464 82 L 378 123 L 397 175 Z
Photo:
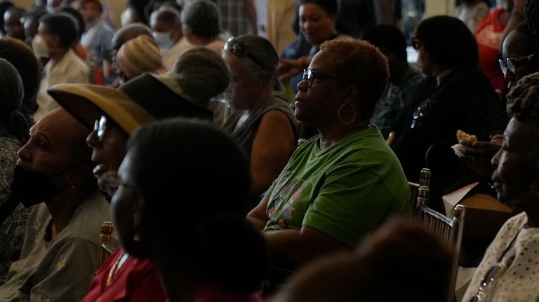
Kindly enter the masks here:
M 223 57 L 230 71 L 225 98 L 235 110 L 224 128 L 250 160 L 256 197 L 270 187 L 295 150 L 297 121 L 288 102 L 275 96 L 279 57 L 270 41 L 253 35 L 230 38 Z

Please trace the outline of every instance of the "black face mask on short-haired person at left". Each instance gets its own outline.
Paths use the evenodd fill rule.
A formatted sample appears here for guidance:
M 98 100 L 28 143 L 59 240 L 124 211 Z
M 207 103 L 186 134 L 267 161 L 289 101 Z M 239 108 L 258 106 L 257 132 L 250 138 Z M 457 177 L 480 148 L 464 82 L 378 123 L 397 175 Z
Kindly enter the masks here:
M 11 182 L 10 199 L 15 198 L 25 207 L 31 207 L 51 199 L 63 189 L 54 183 L 53 177 L 65 171 L 46 175 L 16 166 L 13 182 Z

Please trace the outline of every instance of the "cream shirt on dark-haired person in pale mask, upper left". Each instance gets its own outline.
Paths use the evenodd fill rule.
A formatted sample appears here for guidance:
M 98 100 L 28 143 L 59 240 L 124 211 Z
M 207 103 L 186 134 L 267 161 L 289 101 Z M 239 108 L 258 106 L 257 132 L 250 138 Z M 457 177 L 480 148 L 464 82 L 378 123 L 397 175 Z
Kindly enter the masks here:
M 62 60 L 53 67 L 49 61 L 44 68 L 45 75 L 41 78 L 37 92 L 37 111 L 34 121 L 39 121 L 45 114 L 59 107 L 58 103 L 47 94 L 47 89 L 63 83 L 89 83 L 90 70 L 83 60 L 79 59 L 73 50 L 67 51 Z

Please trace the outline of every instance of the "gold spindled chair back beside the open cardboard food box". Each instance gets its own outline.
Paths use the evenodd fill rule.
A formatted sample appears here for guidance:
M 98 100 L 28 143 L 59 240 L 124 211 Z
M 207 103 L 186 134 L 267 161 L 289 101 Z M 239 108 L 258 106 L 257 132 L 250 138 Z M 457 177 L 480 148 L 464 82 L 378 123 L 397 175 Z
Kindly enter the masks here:
M 428 230 L 432 231 L 441 240 L 448 242 L 455 249 L 455 259 L 451 269 L 451 282 L 449 284 L 450 296 L 448 301 L 454 301 L 455 282 L 457 279 L 458 257 L 460 254 L 460 242 L 463 239 L 463 226 L 466 207 L 457 205 L 453 219 L 446 217 L 430 207 L 422 207 L 421 222 Z

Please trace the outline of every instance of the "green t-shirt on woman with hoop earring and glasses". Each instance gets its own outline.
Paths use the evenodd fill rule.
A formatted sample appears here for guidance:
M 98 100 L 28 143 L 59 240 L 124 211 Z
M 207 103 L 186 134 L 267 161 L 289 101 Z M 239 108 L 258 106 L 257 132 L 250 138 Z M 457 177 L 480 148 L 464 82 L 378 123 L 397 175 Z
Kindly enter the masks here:
M 321 151 L 308 140 L 267 191 L 264 231 L 311 226 L 355 246 L 394 214 L 411 217 L 410 188 L 375 127 Z

